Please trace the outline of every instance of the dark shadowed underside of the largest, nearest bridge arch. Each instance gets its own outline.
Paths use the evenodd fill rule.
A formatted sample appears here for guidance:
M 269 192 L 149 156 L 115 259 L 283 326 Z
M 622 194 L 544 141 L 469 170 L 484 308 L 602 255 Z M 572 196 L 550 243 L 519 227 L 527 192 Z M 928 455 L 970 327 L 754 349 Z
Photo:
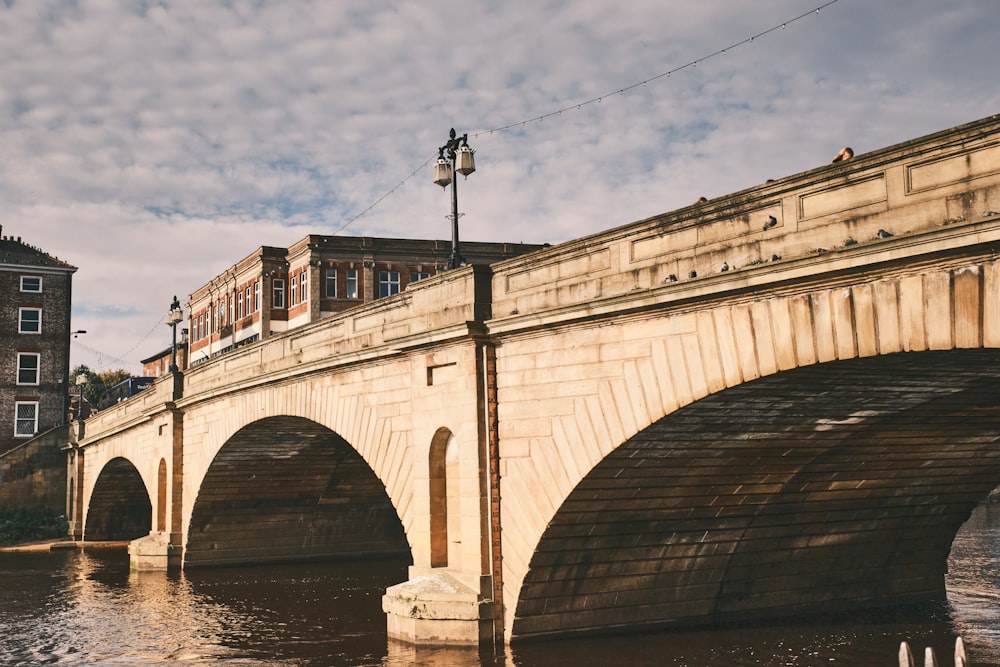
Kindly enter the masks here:
M 1000 484 L 1000 351 L 900 353 L 713 394 L 616 448 L 550 521 L 514 636 L 943 594 Z

